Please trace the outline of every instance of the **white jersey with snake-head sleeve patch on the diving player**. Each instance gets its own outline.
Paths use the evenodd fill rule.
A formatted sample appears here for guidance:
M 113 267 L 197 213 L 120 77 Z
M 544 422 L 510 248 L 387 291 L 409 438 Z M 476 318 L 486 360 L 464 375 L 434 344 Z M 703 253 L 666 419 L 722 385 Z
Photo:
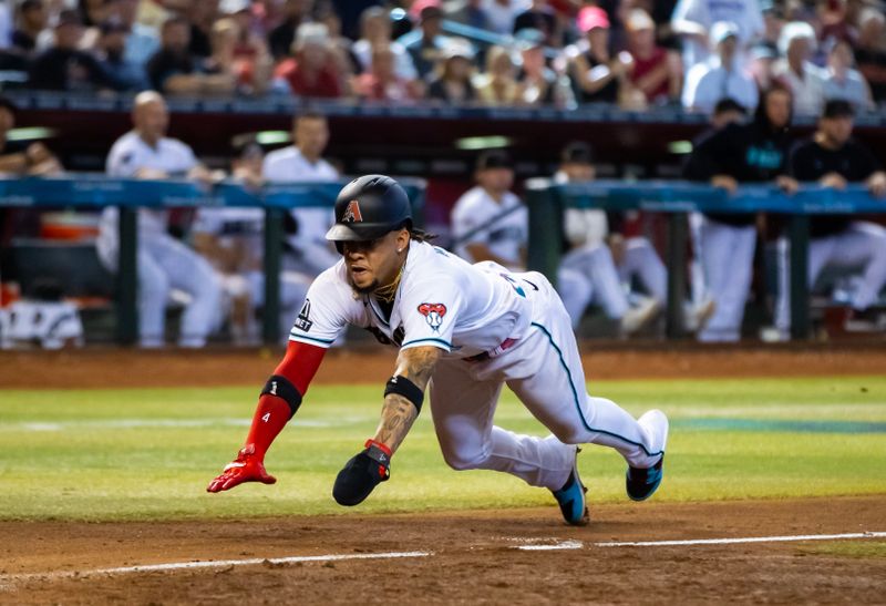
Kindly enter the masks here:
M 412 242 L 390 318 L 374 298 L 354 295 L 342 259 L 313 281 L 289 338 L 329 347 L 353 325 L 402 349 L 432 346 L 466 358 L 523 337 L 532 316 L 527 288 L 496 264 L 472 266 Z

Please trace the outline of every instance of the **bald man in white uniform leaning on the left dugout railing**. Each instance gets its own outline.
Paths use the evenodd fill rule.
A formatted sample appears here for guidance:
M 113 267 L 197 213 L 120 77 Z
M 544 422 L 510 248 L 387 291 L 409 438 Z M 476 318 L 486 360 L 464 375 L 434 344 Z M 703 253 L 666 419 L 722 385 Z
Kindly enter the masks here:
M 209 178 L 190 147 L 166 136 L 169 113 L 163 96 L 153 91 L 140 93 L 132 120 L 135 127 L 120 137 L 107 155 L 110 176 Z M 142 347 L 163 345 L 165 309 L 176 288 L 190 296 L 182 315 L 178 345 L 202 347 L 220 320 L 220 280 L 206 259 L 166 232 L 167 222 L 166 210 L 138 209 L 138 338 Z M 96 247 L 102 263 L 116 271 L 116 208 L 104 209 Z

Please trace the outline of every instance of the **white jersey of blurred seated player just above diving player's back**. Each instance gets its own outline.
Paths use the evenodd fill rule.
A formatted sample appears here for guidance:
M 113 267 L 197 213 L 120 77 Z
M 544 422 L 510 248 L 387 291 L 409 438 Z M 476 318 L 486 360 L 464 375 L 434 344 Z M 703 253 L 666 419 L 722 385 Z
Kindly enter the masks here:
M 495 220 L 508 210 L 512 212 L 507 216 Z M 452 235 L 459 242 L 455 251 L 467 260 L 473 259 L 466 245 L 485 244 L 493 255 L 506 259 L 512 267 L 521 267 L 521 248 L 528 240 L 528 210 L 511 192 L 499 204 L 476 186 L 465 192 L 452 209 Z

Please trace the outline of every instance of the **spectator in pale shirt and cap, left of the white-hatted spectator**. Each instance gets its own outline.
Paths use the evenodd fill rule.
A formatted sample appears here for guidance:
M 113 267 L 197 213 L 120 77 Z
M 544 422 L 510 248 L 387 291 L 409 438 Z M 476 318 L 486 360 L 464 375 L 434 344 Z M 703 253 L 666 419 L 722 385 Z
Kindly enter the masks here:
M 738 25 L 728 21 L 714 23 L 711 44 L 717 49 L 717 57 L 689 71 L 683 88 L 683 107 L 711 113 L 721 99 L 734 99 L 753 112 L 759 93 L 753 79 L 738 64 Z

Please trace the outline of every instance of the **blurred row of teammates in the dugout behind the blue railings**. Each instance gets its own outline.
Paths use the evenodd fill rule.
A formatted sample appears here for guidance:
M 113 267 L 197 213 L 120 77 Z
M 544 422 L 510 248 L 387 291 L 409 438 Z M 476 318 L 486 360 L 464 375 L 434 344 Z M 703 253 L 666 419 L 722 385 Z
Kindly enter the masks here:
M 752 116 L 735 100 L 717 103 L 710 130 L 693 142 L 683 166 L 684 178 L 730 193 L 748 184 L 772 184 L 789 196 L 801 183 L 836 191 L 859 184 L 875 198 L 886 197 L 886 172 L 872 152 L 852 136 L 856 110 L 849 101 L 828 100 L 813 135 L 799 138 L 790 130 L 791 91 L 773 84 L 760 99 Z M 239 137 L 238 154 L 229 171 L 208 170 L 186 142 L 167 135 L 169 113 L 159 93 L 144 91 L 135 96 L 132 122 L 132 130 L 116 140 L 107 155 L 106 173 L 111 177 L 177 177 L 212 185 L 230 176 L 249 187 L 343 178 L 338 167 L 323 157 L 330 132 L 321 114 L 297 114 L 292 144 L 268 153 L 254 136 Z M 58 173 L 58 160 L 41 144 L 6 141 L 4 129 L 13 123 L 14 107 L 0 99 L 0 172 Z M 563 150 L 553 178 L 556 183 L 586 183 L 595 176 L 591 144 L 575 141 Z M 514 191 L 513 160 L 504 150 L 486 150 L 476 157 L 473 178 L 475 185 L 459 197 L 449 217 L 451 240 L 440 244 L 472 263 L 494 261 L 525 270 L 529 219 Z M 73 215 L 65 220 L 70 222 Z M 101 263 L 105 271 L 119 273 L 119 209 L 106 207 L 101 217 L 83 212 L 75 215 L 86 223 L 94 220 L 95 230 L 82 235 L 87 236 L 85 242 L 92 253 L 89 258 L 94 259 L 95 268 Z M 0 235 L 4 226 L 6 230 L 12 229 L 13 236 L 27 235 L 20 219 L 29 217 L 41 223 L 40 234 L 47 237 L 43 227 L 48 214 L 28 208 L 12 209 L 7 220 L 0 213 Z M 618 335 L 642 333 L 674 302 L 668 300 L 668 268 L 662 263 L 660 243 L 657 246 L 652 235 L 655 218 L 656 215 L 637 210 L 566 210 L 562 227 L 565 248 L 556 281 L 577 330 L 586 310 L 595 307 L 617 326 Z M 306 294 L 311 281 L 340 258 L 324 238 L 332 223 L 328 207 L 296 206 L 286 214 L 280 316 L 276 319 L 284 337 L 293 318 L 309 315 Z M 730 214 L 724 208 L 692 213 L 689 225 L 692 288 L 686 300 L 678 301 L 678 316 L 684 328 L 702 341 L 738 341 L 753 276 L 760 274 L 755 261 L 759 244 L 774 244 L 777 239 L 777 285 L 775 300 L 769 305 L 772 326 L 761 336 L 786 339 L 792 322 L 787 286 L 791 243 L 781 232 L 779 217 Z M 203 347 L 219 331 L 235 343 L 259 342 L 259 317 L 265 302 L 264 229 L 265 214 L 259 207 L 200 206 L 196 212 L 138 208 L 141 346 L 156 348 L 167 342 L 166 311 L 172 305 L 182 309 L 177 330 L 182 347 Z M 808 287 L 816 285 L 825 268 L 838 270 L 845 279 L 841 278 L 843 286 L 834 289 L 833 296 L 834 300 L 839 298 L 847 314 L 844 320 L 886 329 L 880 298 L 886 287 L 886 228 L 853 215 L 826 215 L 811 217 L 810 235 Z M 11 246 L 7 248 L 16 249 L 13 257 L 18 260 L 0 265 L 12 267 L 16 279 L 34 278 L 30 275 L 34 274 L 33 251 L 22 248 L 21 242 L 9 242 Z M 44 244 L 52 248 L 51 243 Z M 70 249 L 61 250 L 65 255 L 64 250 Z M 87 265 L 86 259 L 60 277 L 70 279 L 73 274 L 83 274 Z M 82 328 L 70 320 L 76 317 L 74 305 L 61 300 L 63 288 L 33 283 L 22 291 L 25 300 L 16 301 L 9 311 L 0 308 L 0 347 L 33 340 L 50 347 L 73 337 L 82 340 Z M 758 295 L 765 299 L 766 287 L 759 286 Z

